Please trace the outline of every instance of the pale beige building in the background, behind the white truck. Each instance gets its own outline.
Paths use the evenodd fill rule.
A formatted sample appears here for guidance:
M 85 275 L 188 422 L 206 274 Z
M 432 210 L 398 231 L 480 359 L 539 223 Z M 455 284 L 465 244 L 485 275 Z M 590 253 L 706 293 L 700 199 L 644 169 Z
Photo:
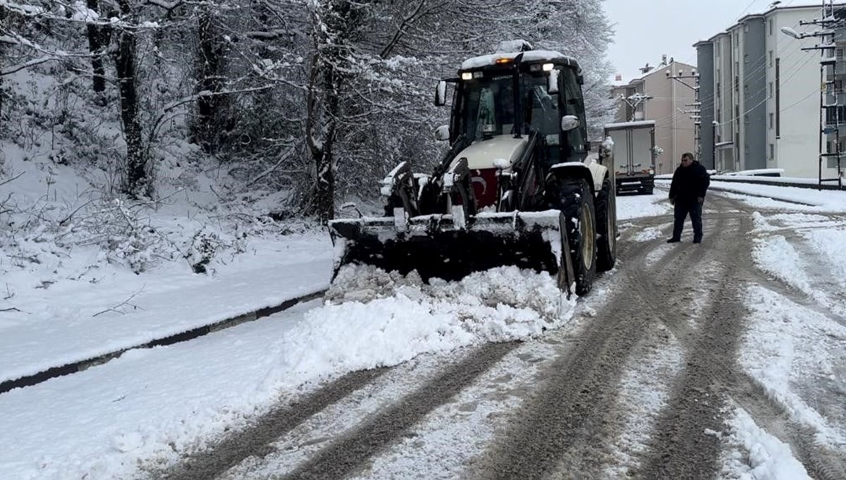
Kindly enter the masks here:
M 670 61 L 634 79 L 628 85 L 614 87 L 616 98 L 648 97 L 632 108 L 625 101 L 618 112 L 618 122 L 654 120 L 655 144 L 662 154 L 656 159 L 656 173 L 672 173 L 684 152 L 695 154 L 696 69 L 687 63 Z M 681 77 L 681 78 L 672 78 Z

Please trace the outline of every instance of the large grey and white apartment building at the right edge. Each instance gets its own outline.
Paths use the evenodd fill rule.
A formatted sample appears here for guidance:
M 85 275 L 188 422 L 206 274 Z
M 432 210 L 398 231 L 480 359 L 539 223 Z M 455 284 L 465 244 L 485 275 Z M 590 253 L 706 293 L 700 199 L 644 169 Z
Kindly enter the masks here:
M 801 30 L 803 21 L 820 14 L 819 4 L 771 8 L 746 15 L 725 31 L 695 43 L 703 164 L 720 171 L 783 168 L 788 177 L 817 177 L 821 85 L 835 104 L 842 90 L 833 80 L 830 88 L 821 83 L 827 75 L 821 69 L 820 51 L 812 49 L 820 39 L 795 38 L 782 29 Z M 836 54 L 843 55 L 843 46 L 838 46 Z M 839 124 L 837 112 L 829 116 L 832 124 Z M 837 144 L 835 140 L 830 148 L 837 150 Z M 837 174 L 836 162 L 836 155 L 823 161 L 822 177 Z

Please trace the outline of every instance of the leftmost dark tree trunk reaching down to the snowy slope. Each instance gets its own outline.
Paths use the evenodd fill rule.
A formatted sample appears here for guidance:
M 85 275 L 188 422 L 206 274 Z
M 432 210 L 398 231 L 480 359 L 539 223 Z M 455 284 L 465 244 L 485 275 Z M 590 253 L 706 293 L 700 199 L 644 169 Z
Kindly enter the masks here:
M 115 53 L 120 94 L 120 118 L 126 137 L 126 184 L 124 192 L 132 197 L 150 195 L 152 186 L 147 177 L 146 155 L 141 139 L 138 117 L 138 86 L 135 79 L 135 35 L 128 31 L 118 33 L 118 51 Z

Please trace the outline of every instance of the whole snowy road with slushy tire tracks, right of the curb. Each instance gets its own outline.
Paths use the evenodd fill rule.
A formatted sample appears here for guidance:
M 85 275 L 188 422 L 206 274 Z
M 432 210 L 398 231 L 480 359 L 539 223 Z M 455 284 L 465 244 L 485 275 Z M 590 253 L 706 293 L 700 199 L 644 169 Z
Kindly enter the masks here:
M 715 194 L 705 243 L 667 245 L 663 195 L 619 199 L 575 304 L 382 278 L 0 395 L 0 477 L 846 477 L 837 207 Z

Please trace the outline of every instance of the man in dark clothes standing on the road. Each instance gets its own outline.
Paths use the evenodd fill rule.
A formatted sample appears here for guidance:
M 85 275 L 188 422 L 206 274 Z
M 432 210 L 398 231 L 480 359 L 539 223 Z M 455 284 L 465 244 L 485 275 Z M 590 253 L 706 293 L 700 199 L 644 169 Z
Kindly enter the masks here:
M 670 184 L 670 203 L 675 206 L 673 237 L 667 243 L 681 242 L 684 219 L 690 214 L 693 224 L 693 243 L 702 242 L 702 203 L 711 184 L 711 177 L 704 166 L 693 159 L 693 154 L 682 155 L 682 164 L 673 173 Z

